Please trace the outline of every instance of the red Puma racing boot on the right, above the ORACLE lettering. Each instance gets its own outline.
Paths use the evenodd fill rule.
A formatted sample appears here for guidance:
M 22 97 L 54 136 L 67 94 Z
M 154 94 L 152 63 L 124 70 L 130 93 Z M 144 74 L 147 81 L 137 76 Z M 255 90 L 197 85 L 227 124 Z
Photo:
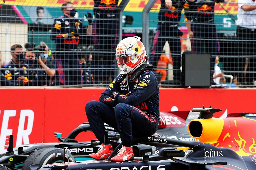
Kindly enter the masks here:
M 125 147 L 122 146 L 121 149 L 118 149 L 118 154 L 116 154 L 113 158 L 111 158 L 111 161 L 128 161 L 133 160 L 134 154 L 131 147 Z

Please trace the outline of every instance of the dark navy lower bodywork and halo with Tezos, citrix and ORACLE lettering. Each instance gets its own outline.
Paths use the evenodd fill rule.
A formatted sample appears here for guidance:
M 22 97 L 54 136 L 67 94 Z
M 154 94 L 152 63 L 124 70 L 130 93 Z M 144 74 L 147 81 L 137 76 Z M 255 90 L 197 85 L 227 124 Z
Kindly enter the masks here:
M 153 155 L 143 155 L 133 161 L 115 162 L 109 159 L 117 153 L 117 147 L 108 160 L 74 161 L 69 163 L 48 164 L 40 170 L 213 170 L 213 169 L 255 169 L 256 165 L 250 156 L 239 156 L 229 148 L 218 148 L 210 144 L 182 141 L 177 139 L 149 136 L 137 138 L 133 143 L 143 143 L 155 146 Z M 176 150 L 177 146 L 187 147 L 189 150 Z M 38 165 L 31 165 L 36 170 Z

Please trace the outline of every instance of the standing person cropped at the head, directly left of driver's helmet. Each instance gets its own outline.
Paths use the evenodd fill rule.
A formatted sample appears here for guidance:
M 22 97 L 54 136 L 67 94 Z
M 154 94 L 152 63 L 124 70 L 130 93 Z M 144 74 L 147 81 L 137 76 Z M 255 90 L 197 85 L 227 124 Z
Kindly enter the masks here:
M 104 71 L 94 70 L 95 83 L 109 84 L 112 75 L 111 65 L 114 63 L 115 46 L 119 34 L 119 0 L 102 1 L 94 0 L 92 40 L 94 43 L 93 64 L 94 68 Z M 108 51 L 107 53 L 105 51 Z

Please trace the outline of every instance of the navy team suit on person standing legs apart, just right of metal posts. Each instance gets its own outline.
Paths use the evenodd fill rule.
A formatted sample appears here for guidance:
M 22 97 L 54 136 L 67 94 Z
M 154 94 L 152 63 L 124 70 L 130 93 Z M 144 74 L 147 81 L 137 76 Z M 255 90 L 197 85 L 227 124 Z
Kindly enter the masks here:
M 153 39 L 150 62 L 156 68 L 157 62 L 162 54 L 165 42 L 168 41 L 170 52 L 173 58 L 174 79 L 180 80 L 181 66 L 181 43 L 180 36 L 183 33 L 178 29 L 178 23 L 181 17 L 181 11 L 185 1 L 178 0 L 172 2 L 172 8 L 165 7 L 165 0 L 161 0 L 161 8 L 158 13 L 158 24 L 156 34 Z

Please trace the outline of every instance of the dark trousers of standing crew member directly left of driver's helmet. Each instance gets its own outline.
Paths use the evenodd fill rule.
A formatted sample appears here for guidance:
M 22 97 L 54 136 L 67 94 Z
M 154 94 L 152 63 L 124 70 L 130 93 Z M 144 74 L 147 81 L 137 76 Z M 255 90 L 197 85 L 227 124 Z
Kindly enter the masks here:
M 119 24 L 116 17 L 95 18 L 93 23 L 93 60 L 95 68 L 102 68 L 101 72 L 94 70 L 95 84 L 107 83 L 116 75 L 111 67 L 116 64 L 115 49 L 119 43 Z

